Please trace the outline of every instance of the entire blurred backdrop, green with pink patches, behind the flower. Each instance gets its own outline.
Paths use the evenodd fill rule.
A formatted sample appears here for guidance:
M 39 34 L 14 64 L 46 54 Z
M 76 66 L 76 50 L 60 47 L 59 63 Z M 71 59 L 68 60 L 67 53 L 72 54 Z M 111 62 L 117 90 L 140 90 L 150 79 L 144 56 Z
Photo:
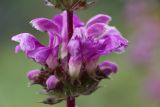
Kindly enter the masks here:
M 117 62 L 119 72 L 101 82 L 102 88 L 90 96 L 77 98 L 78 107 L 160 107 L 160 1 L 95 0 L 90 8 L 78 11 L 81 19 L 104 13 L 129 40 L 121 55 L 103 57 Z M 49 107 L 40 102 L 47 96 L 28 87 L 26 73 L 40 68 L 23 53 L 15 54 L 10 39 L 21 32 L 36 35 L 47 43 L 45 33 L 29 24 L 37 17 L 51 18 L 59 11 L 44 6 L 42 0 L 0 0 L 0 107 Z M 65 107 L 65 102 L 53 105 Z

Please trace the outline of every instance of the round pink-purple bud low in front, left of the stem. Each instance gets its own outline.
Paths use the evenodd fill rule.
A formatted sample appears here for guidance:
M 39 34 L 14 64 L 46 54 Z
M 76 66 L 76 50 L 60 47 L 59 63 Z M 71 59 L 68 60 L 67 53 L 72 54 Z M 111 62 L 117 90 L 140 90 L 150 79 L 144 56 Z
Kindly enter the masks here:
M 56 76 L 51 75 L 46 81 L 47 88 L 49 90 L 56 88 L 58 82 L 59 80 L 56 78 Z

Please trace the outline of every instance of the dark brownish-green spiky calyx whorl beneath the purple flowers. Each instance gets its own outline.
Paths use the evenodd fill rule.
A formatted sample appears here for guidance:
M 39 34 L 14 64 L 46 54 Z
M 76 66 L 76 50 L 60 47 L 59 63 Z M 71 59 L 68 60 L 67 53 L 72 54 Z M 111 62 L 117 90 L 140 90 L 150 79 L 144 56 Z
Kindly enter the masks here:
M 80 77 L 74 81 L 67 72 L 61 71 L 61 67 L 57 67 L 55 71 L 45 69 L 43 73 L 54 74 L 59 79 L 57 86 L 51 90 L 48 90 L 46 85 L 40 84 L 44 88 L 42 94 L 49 96 L 42 103 L 49 105 L 66 100 L 68 96 L 75 98 L 80 95 L 90 95 L 100 88 L 99 83 L 102 79 L 109 79 L 99 68 L 96 69 L 96 74 L 92 75 L 84 69 Z

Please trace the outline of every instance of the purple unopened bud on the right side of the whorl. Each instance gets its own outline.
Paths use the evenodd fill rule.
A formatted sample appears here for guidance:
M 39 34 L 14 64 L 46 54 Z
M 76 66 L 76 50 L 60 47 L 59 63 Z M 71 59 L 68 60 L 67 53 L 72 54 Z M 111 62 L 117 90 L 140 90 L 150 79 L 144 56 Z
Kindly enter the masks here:
M 102 62 L 101 64 L 99 64 L 99 68 L 105 74 L 106 77 L 108 77 L 111 73 L 117 72 L 117 65 L 110 61 Z

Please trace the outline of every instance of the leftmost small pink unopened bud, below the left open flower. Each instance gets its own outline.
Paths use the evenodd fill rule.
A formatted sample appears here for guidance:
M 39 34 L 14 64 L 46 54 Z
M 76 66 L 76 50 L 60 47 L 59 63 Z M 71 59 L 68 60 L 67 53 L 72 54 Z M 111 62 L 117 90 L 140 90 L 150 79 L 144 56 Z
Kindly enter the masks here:
M 40 70 L 37 70 L 37 69 L 35 69 L 35 70 L 31 70 L 31 71 L 29 71 L 28 73 L 27 73 L 27 78 L 29 79 L 29 80 L 31 80 L 31 81 L 34 81 L 34 80 L 36 80 L 36 78 L 39 76 L 39 74 L 40 74 Z

